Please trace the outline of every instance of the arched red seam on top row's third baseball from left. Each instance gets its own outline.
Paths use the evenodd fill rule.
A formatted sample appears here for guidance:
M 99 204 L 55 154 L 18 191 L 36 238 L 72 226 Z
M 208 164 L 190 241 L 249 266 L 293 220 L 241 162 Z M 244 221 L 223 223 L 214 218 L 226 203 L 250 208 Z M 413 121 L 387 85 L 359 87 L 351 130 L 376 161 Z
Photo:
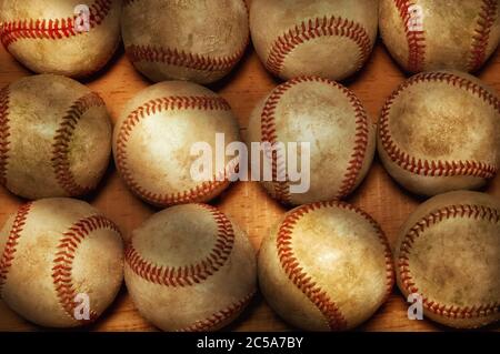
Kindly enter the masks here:
M 359 70 L 370 55 L 372 45 L 370 37 L 360 23 L 334 16 L 302 21 L 279 36 L 271 45 L 266 67 L 274 75 L 279 75 L 287 57 L 300 44 L 321 37 L 333 36 L 351 39 L 358 45 L 360 55 L 357 69 Z

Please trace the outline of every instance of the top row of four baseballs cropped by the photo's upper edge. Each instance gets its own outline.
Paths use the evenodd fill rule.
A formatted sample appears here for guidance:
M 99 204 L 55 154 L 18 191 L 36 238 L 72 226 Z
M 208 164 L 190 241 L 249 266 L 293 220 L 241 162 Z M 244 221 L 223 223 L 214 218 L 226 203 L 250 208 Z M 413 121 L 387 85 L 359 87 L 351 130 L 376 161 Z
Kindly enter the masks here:
M 89 75 L 120 41 L 152 81 L 210 83 L 242 58 L 251 32 L 281 79 L 342 80 L 381 36 L 407 71 L 477 71 L 500 42 L 498 0 L 80 0 L 0 1 L 0 39 L 38 73 Z M 79 13 L 73 16 L 73 11 Z M 121 31 L 120 31 L 121 23 Z

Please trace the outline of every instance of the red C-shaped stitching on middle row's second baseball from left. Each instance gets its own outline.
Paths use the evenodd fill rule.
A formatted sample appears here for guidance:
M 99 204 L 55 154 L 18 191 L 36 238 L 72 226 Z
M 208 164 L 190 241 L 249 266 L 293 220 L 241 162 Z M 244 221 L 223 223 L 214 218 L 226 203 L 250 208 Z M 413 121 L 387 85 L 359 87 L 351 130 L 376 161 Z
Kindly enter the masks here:
M 229 180 L 231 171 L 238 169 L 237 165 L 229 165 L 224 171 L 219 172 L 212 181 L 203 182 L 190 190 L 176 194 L 158 194 L 148 191 L 139 185 L 129 170 L 127 161 L 127 144 L 132 130 L 148 115 L 168 110 L 206 110 L 206 111 L 229 111 L 229 103 L 222 98 L 213 97 L 166 97 L 150 100 L 133 110 L 124 120 L 117 138 L 117 164 L 121 175 L 129 188 L 146 201 L 157 205 L 172 205 L 180 203 L 196 202 L 204 195 L 209 195 Z M 222 180 L 223 175 L 223 181 Z

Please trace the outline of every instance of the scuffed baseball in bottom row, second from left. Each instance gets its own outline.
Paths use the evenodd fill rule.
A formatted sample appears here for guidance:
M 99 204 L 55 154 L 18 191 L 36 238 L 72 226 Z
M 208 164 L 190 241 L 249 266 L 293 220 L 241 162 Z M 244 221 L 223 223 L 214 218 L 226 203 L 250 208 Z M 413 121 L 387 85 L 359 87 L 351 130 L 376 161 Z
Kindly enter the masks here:
M 163 331 L 226 326 L 257 283 L 248 236 L 207 204 L 172 206 L 133 231 L 124 274 L 139 312 Z

